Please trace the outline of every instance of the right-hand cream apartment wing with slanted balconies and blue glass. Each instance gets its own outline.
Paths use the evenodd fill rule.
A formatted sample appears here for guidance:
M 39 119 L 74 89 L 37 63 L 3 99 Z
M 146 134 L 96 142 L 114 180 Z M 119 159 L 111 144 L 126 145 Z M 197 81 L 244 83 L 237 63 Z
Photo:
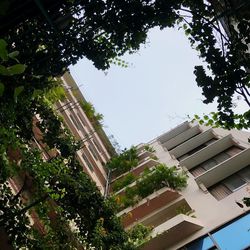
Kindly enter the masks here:
M 137 181 L 144 169 L 161 163 L 188 176 L 185 188 L 159 183 L 152 194 L 118 213 L 126 229 L 138 223 L 153 227 L 143 250 L 250 249 L 250 214 L 242 202 L 250 196 L 249 137 L 244 131 L 184 122 L 137 146 L 139 164 L 129 171 Z M 147 151 L 149 146 L 155 151 Z M 111 187 L 126 175 L 114 178 Z M 124 193 L 126 187 L 116 195 Z

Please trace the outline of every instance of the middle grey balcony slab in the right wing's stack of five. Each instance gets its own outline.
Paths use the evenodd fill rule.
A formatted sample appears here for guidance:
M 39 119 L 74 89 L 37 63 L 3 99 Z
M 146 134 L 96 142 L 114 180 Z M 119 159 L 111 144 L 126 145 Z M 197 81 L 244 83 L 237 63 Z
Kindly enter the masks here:
M 182 143 L 181 145 L 175 147 L 172 149 L 169 153 L 171 155 L 174 155 L 175 158 L 178 158 L 187 152 L 199 147 L 200 145 L 206 143 L 207 141 L 211 140 L 214 138 L 213 134 L 213 129 L 209 129 L 193 138 L 190 140 Z

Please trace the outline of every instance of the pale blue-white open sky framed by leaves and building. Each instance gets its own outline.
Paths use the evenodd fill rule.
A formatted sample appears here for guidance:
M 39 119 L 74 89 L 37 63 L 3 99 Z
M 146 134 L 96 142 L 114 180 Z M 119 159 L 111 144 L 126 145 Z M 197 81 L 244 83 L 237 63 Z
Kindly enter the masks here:
M 202 102 L 193 74 L 202 64 L 177 29 L 152 29 L 148 41 L 122 57 L 129 67 L 97 70 L 87 59 L 70 67 L 85 98 L 104 115 L 104 130 L 120 147 L 147 143 L 176 125 L 216 110 Z

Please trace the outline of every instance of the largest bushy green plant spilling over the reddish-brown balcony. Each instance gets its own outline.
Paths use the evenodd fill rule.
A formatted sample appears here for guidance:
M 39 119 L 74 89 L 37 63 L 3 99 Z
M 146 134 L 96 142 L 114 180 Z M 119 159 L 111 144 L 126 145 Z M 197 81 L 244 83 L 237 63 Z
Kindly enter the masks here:
M 115 200 L 118 210 L 121 211 L 135 205 L 163 187 L 180 190 L 186 185 L 187 176 L 183 172 L 178 171 L 176 167 L 167 167 L 165 164 L 160 164 L 155 169 L 144 171 L 143 175 L 137 179 L 136 185 L 127 187 L 123 194 L 115 196 Z

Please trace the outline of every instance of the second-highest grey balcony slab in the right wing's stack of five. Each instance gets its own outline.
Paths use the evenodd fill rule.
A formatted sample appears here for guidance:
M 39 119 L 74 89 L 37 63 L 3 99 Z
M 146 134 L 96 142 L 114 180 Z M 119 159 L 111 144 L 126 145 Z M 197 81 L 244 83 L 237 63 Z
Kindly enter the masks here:
M 178 134 L 174 138 L 172 138 L 168 141 L 165 141 L 162 145 L 167 150 L 172 150 L 175 147 L 177 147 L 178 145 L 180 145 L 181 143 L 184 143 L 185 141 L 191 139 L 192 137 L 194 137 L 200 133 L 201 133 L 201 131 L 200 131 L 199 125 L 196 125 L 194 127 L 191 127 L 189 129 L 185 130 L 184 132 Z

